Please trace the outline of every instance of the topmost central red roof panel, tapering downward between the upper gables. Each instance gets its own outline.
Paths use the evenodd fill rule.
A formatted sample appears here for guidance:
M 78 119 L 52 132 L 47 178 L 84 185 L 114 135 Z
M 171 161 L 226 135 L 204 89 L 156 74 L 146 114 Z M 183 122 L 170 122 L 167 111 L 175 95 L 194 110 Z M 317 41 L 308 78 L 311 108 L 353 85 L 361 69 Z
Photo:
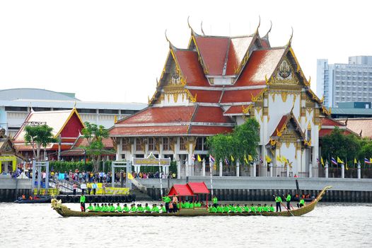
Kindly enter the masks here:
M 209 74 L 221 75 L 230 39 L 224 37 L 195 36 L 195 40 Z

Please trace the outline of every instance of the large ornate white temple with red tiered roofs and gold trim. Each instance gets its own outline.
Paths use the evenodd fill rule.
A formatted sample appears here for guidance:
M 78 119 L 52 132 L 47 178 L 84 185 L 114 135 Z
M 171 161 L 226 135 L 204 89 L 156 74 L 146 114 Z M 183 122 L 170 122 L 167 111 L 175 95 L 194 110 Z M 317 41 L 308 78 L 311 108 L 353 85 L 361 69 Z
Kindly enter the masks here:
M 330 110 L 310 89 L 291 47 L 292 36 L 286 45 L 272 47 L 271 28 L 264 36 L 258 26 L 252 35 L 237 37 L 190 29 L 186 49 L 167 38 L 168 57 L 147 108 L 110 128 L 117 159 L 152 152 L 179 161 L 184 169 L 199 166 L 193 154 L 209 154 L 207 137 L 255 118 L 260 123 L 257 176 L 267 176 L 269 167 L 274 176 L 288 175 L 286 171 L 309 176 L 309 169 L 317 176 L 321 119 Z M 192 175 L 184 169 L 182 175 Z

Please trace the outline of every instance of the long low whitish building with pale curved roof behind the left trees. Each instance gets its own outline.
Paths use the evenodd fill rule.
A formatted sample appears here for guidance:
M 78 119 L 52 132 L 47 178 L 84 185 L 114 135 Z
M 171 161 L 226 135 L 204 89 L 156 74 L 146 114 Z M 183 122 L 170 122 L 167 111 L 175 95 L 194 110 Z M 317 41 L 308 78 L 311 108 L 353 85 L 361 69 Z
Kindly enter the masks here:
M 4 128 L 7 135 L 14 136 L 31 108 L 33 111 L 64 111 L 74 106 L 83 122 L 110 128 L 114 125 L 115 116 L 120 119 L 132 115 L 146 104 L 81 101 L 74 93 L 45 89 L 5 89 L 0 90 L 0 128 Z

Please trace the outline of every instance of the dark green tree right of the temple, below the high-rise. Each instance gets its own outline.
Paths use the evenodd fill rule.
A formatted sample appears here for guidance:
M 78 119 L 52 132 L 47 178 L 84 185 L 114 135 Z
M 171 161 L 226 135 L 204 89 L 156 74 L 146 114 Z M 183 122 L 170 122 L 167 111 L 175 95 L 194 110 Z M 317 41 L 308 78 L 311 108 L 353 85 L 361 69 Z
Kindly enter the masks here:
M 361 141 L 356 135 L 344 135 L 335 127 L 330 135 L 322 137 L 322 157 L 339 157 L 347 160 L 359 157 Z

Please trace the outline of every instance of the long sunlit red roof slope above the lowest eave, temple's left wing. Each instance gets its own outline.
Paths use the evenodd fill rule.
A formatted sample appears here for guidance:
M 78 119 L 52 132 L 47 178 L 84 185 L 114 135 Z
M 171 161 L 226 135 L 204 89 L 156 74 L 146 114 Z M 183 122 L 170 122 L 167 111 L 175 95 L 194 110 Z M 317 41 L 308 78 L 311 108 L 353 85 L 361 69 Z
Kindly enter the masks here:
M 120 120 L 117 124 L 188 122 L 194 110 L 195 106 L 150 107 Z

